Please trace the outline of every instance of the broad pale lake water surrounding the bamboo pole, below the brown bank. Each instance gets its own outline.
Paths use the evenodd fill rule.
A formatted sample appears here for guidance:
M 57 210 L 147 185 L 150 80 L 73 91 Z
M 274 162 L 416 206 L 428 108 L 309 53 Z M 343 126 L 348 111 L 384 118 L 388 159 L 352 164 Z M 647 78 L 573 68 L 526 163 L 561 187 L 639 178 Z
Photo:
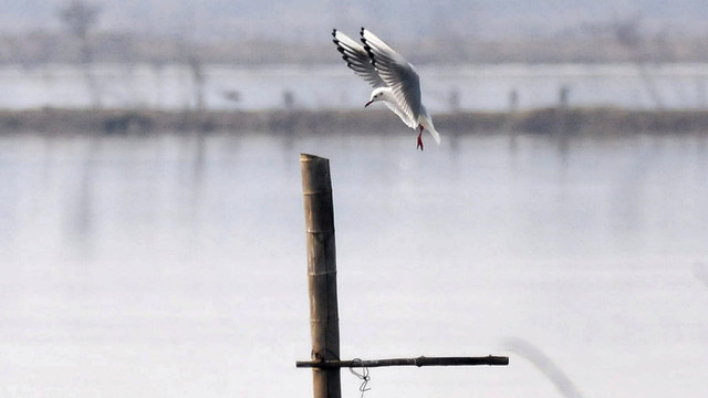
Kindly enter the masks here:
M 510 356 L 366 397 L 708 394 L 707 136 L 402 129 L 0 136 L 0 397 L 311 397 L 300 153 L 331 159 L 343 357 Z

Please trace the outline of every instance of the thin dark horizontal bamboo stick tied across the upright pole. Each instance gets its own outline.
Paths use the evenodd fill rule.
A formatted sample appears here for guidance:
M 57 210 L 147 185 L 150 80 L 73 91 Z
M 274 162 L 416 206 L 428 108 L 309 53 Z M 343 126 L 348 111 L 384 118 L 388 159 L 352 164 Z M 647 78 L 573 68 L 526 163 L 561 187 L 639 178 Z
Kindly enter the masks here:
M 372 360 L 298 360 L 295 367 L 305 368 L 357 368 L 357 367 L 382 367 L 382 366 L 506 366 L 509 365 L 509 357 L 504 356 L 485 356 L 485 357 L 417 357 L 417 358 L 393 358 L 393 359 L 372 359 Z

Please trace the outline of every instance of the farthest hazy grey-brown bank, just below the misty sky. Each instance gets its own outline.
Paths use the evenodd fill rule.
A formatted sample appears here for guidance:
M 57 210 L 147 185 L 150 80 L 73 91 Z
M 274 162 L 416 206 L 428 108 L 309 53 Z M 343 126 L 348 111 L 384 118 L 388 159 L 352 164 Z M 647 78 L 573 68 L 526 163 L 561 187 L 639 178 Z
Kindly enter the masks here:
M 312 65 L 340 62 L 330 43 L 331 28 L 321 40 L 281 40 L 268 38 L 185 40 L 177 36 L 145 35 L 132 32 L 94 32 L 82 43 L 66 31 L 32 31 L 25 34 L 0 32 L 0 64 L 43 65 L 81 64 L 88 45 L 92 63 L 149 63 L 165 65 Z M 552 36 L 461 38 L 437 36 L 393 40 L 402 54 L 415 54 L 416 65 L 486 63 L 616 63 L 654 64 L 664 62 L 708 62 L 706 39 L 698 35 L 637 35 L 627 38 L 608 24 L 597 32 Z M 624 27 L 638 29 L 637 24 Z M 631 31 L 632 32 L 632 31 Z M 355 32 L 351 32 L 355 33 Z M 637 32 L 635 32 L 637 33 Z M 641 32 L 639 32 L 641 33 Z M 627 39 L 632 41 L 627 42 Z M 326 51 L 323 51 L 326 49 Z M 455 51 L 451 51 L 455 49 Z

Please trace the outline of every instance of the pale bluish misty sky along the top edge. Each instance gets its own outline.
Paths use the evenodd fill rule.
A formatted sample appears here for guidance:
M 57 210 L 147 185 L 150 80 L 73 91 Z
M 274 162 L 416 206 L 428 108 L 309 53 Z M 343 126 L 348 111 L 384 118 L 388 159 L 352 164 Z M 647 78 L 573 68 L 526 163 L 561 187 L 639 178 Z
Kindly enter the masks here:
M 69 0 L 0 0 L 0 30 L 59 30 Z M 705 0 L 94 0 L 100 29 L 200 40 L 317 40 L 337 27 L 366 25 L 392 40 L 417 36 L 554 34 L 582 23 L 641 18 L 649 30 L 708 34 Z

